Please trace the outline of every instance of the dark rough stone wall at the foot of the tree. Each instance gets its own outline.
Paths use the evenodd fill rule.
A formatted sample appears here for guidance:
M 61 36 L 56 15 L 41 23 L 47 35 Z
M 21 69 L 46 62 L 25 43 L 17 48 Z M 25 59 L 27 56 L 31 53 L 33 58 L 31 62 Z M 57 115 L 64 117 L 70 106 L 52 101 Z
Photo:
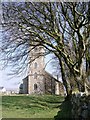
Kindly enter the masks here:
M 90 95 L 73 94 L 72 99 L 72 118 L 80 120 L 90 118 Z

